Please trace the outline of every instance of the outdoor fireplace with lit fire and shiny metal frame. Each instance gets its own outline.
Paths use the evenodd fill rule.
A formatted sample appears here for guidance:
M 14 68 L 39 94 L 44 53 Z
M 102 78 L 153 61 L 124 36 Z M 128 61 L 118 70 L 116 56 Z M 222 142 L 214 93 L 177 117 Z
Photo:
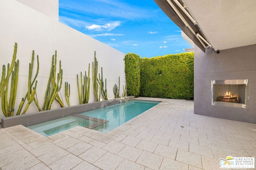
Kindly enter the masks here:
M 248 108 L 248 79 L 212 80 L 212 105 Z

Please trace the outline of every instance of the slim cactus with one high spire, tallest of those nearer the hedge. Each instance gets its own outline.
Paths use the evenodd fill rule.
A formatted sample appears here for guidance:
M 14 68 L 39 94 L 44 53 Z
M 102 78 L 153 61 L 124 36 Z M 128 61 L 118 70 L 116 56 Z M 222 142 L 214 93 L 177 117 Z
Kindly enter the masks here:
M 100 101 L 100 94 L 101 94 L 101 83 L 100 81 L 100 90 L 98 91 L 98 61 L 96 59 L 96 51 L 94 51 L 94 62 L 92 62 L 92 86 L 94 91 L 94 96 L 96 102 Z M 98 94 L 99 92 L 99 94 Z

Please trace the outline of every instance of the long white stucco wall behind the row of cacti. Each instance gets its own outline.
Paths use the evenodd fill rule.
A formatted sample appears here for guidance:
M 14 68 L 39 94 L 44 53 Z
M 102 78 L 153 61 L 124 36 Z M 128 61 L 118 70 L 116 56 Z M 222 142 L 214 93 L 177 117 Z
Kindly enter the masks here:
M 75 29 L 64 25 L 36 10 L 17 2 L 16 0 L 0 0 L 0 66 L 10 63 L 14 50 L 14 43 L 18 43 L 17 59 L 20 61 L 18 94 L 14 113 L 22 97 L 27 92 L 28 65 L 31 61 L 32 50 L 39 55 L 40 69 L 38 74 L 37 98 L 40 106 L 44 102 L 44 94 L 50 74 L 52 55 L 57 50 L 58 62 L 61 60 L 63 69 L 63 84 L 61 89 L 64 105 L 67 106 L 64 96 L 64 82 L 70 83 L 70 105 L 78 105 L 76 74 L 88 72 L 90 63 L 90 77 L 92 80 L 92 62 L 94 51 L 98 60 L 98 72 L 103 67 L 103 78 L 107 79 L 108 97 L 114 98 L 112 88 L 118 83 L 120 76 L 120 96 L 122 86 L 126 84 L 124 73 L 125 54 L 101 43 L 92 37 L 84 35 Z M 57 64 L 59 66 L 59 64 Z M 34 61 L 34 73 L 36 59 Z M 0 75 L 2 70 L 0 70 Z M 92 82 L 90 86 L 90 100 L 94 102 Z M 60 107 L 54 102 L 52 108 Z M 29 112 L 37 111 L 34 103 Z M 0 110 L 1 115 L 2 110 Z

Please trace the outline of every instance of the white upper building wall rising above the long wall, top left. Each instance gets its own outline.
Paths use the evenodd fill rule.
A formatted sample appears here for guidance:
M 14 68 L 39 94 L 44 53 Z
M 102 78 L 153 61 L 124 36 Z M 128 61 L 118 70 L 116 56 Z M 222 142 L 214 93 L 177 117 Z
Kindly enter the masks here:
M 58 0 L 17 0 L 18 2 L 41 12 L 54 20 L 59 20 L 59 1 Z

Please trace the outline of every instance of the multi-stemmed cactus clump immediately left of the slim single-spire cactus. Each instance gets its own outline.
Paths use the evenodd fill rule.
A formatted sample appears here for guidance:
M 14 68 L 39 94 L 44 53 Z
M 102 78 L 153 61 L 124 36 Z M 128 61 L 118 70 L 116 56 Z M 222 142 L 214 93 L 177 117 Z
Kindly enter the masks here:
M 89 96 L 90 96 L 90 63 L 88 68 L 88 76 L 86 75 L 86 72 L 85 72 L 84 78 L 82 79 L 82 72 L 80 72 L 80 87 L 79 87 L 78 74 L 76 74 L 76 80 L 77 80 L 79 104 L 86 104 L 88 103 Z

